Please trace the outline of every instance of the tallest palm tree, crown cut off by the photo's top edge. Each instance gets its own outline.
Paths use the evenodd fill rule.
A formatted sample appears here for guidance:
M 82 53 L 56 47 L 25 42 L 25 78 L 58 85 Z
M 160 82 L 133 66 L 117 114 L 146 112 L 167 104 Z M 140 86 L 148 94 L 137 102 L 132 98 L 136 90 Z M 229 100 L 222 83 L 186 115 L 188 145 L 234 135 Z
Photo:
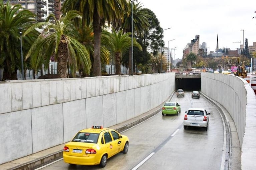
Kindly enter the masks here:
M 82 13 L 82 25 L 92 23 L 94 33 L 93 76 L 101 76 L 100 38 L 102 27 L 107 22 L 122 21 L 123 15 L 129 11 L 126 0 L 66 0 L 62 7 L 63 13 L 77 10 Z

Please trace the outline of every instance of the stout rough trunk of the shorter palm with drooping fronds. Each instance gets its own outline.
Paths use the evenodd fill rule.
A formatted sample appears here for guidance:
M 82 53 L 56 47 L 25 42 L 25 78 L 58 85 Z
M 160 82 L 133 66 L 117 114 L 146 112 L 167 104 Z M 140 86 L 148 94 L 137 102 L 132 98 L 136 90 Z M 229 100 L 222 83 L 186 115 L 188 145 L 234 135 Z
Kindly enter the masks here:
M 60 42 L 58 47 L 58 66 L 57 72 L 59 78 L 67 78 L 67 44 L 65 42 Z

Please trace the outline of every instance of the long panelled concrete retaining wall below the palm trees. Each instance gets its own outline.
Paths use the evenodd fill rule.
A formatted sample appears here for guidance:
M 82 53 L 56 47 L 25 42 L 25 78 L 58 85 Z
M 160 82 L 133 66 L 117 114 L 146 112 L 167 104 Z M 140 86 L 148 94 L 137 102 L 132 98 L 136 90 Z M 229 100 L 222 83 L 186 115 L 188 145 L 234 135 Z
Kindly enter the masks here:
M 168 99 L 174 82 L 170 73 L 0 83 L 0 164 L 137 117 Z

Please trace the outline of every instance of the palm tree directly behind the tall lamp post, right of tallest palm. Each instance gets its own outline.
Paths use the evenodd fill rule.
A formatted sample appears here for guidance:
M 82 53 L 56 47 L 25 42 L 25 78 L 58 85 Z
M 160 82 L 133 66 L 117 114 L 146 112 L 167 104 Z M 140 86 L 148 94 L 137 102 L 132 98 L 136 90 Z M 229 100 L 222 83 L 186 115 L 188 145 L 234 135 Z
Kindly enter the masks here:
M 134 2 L 129 1 L 130 12 L 124 15 L 123 23 L 114 23 L 115 30 L 123 30 L 123 33 L 132 32 L 132 4 L 133 3 L 133 33 L 137 36 L 142 36 L 145 31 L 148 31 L 149 28 L 149 18 L 150 15 L 148 10 L 142 8 L 143 6 L 139 3 L 135 4 Z M 131 46 L 130 46 L 131 47 Z M 132 74 L 132 47 L 129 49 L 129 74 Z M 136 60 L 135 60 L 136 61 Z M 136 64 L 134 62 L 134 64 Z M 124 64 L 128 65 L 128 64 Z M 133 67 L 135 69 L 135 67 Z M 134 70 L 133 70 L 134 72 Z

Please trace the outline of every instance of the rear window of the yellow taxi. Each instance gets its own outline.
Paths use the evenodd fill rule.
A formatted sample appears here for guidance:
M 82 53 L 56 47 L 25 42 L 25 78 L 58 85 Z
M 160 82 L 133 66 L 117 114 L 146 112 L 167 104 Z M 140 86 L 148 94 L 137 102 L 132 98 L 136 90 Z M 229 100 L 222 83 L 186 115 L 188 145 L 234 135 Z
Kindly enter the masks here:
M 98 137 L 98 133 L 79 132 L 73 138 L 72 142 L 97 143 Z

